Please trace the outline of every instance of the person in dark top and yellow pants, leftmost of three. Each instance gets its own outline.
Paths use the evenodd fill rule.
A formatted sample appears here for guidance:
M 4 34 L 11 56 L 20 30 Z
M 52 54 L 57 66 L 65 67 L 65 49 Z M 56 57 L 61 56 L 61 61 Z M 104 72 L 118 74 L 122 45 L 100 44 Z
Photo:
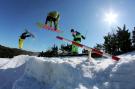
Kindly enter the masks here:
M 27 37 L 33 37 L 34 35 L 32 35 L 30 32 L 28 32 L 27 30 L 25 32 L 23 32 L 19 38 L 19 48 L 21 49 L 23 47 L 24 44 L 24 40 Z

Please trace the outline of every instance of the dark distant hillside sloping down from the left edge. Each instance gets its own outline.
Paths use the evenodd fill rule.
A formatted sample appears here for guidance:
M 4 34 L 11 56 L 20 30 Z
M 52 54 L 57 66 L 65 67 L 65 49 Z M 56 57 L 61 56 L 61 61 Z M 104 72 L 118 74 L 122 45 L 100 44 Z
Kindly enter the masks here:
M 17 48 L 10 48 L 0 45 L 0 58 L 12 58 L 17 55 L 30 55 L 37 56 L 38 52 L 31 52 L 26 50 L 21 50 Z

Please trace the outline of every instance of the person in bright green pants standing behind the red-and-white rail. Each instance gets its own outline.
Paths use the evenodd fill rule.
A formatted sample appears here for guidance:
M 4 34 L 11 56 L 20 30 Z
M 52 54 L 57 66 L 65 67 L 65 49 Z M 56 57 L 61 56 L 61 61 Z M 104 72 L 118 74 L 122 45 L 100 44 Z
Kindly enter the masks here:
M 80 32 L 78 31 L 74 31 L 74 29 L 71 29 L 71 33 L 72 33 L 72 36 L 73 36 L 73 41 L 75 41 L 76 43 L 81 43 L 81 39 L 85 39 L 85 37 L 83 35 L 81 35 Z M 73 54 L 78 54 L 78 46 L 72 44 L 71 46 L 71 52 Z

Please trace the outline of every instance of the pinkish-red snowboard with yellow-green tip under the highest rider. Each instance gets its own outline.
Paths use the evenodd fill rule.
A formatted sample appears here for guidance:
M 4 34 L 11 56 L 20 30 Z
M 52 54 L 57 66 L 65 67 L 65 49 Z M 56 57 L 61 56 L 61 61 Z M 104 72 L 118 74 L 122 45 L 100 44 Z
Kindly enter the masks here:
M 50 31 L 53 31 L 53 32 L 62 33 L 61 30 L 55 29 L 55 28 L 50 27 L 50 26 L 48 26 L 48 25 L 45 25 L 45 24 L 43 24 L 43 23 L 41 23 L 41 22 L 37 22 L 37 26 L 38 26 L 39 28 L 43 28 L 44 30 L 50 30 Z

